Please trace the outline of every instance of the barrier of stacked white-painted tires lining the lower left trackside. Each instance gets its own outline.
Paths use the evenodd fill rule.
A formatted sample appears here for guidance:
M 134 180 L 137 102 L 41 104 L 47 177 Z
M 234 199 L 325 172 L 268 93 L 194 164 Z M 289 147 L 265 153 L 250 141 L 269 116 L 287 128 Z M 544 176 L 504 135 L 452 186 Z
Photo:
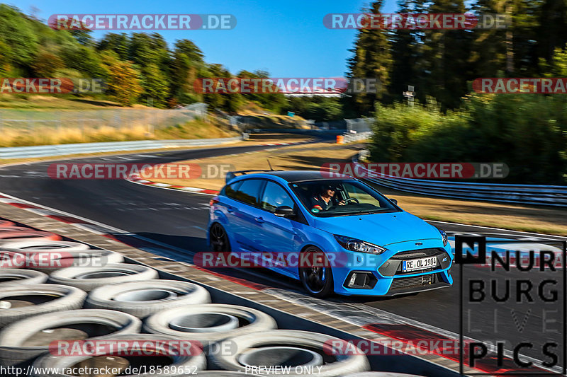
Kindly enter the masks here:
M 15 226 L 0 221 L 0 228 Z M 0 366 L 13 371 L 3 376 L 24 376 L 16 368 L 30 367 L 33 377 L 67 377 L 63 371 L 75 367 L 108 366 L 120 376 L 237 377 L 272 367 L 287 370 L 288 376 L 309 376 L 316 368 L 320 377 L 408 377 L 367 372 L 369 361 L 362 352 L 325 352 L 336 337 L 277 330 L 276 320 L 262 311 L 211 303 L 203 286 L 159 279 L 155 269 L 123 263 L 119 253 L 24 229 L 16 233 L 36 232 L 43 238 L 0 243 Z M 6 258 L 12 262 L 18 255 L 42 252 L 57 254 L 61 266 L 6 267 Z M 90 265 L 84 264 L 85 256 Z M 69 344 L 81 352 L 69 354 L 75 349 Z M 98 344 L 150 345 L 144 354 L 129 354 Z

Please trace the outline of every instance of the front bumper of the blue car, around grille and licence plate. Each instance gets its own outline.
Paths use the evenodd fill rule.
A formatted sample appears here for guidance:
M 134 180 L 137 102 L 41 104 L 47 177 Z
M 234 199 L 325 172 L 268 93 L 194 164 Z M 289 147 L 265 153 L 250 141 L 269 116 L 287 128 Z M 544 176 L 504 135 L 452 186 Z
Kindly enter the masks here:
M 420 257 L 437 257 L 437 265 L 416 272 L 403 272 L 403 260 Z M 364 263 L 374 257 L 375 263 Z M 453 277 L 450 269 L 453 263 L 451 246 L 439 246 L 439 240 L 423 240 L 419 248 L 415 242 L 395 244 L 379 259 L 374 255 L 352 253 L 358 261 L 356 267 L 333 268 L 335 293 L 357 296 L 395 296 L 420 291 L 429 291 L 451 286 Z

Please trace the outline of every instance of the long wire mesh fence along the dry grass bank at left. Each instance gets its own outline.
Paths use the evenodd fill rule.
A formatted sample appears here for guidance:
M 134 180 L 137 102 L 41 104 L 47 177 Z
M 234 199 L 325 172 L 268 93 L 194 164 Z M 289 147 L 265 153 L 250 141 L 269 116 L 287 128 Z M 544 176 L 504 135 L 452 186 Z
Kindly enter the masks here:
M 116 129 L 146 127 L 148 131 L 183 124 L 206 116 L 206 104 L 196 103 L 177 109 L 100 109 L 100 110 L 31 110 L 1 109 L 0 131 L 18 129 L 100 128 Z

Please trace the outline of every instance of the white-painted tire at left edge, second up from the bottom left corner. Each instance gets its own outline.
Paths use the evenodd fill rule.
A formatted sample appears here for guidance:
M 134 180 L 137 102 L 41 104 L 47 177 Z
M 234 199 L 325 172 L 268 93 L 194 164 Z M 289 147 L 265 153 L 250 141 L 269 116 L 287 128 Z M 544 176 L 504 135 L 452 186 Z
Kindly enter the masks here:
M 6 301 L 7 299 L 21 296 L 35 296 L 36 298 L 51 299 L 30 306 L 1 309 L 0 327 L 33 315 L 82 308 L 86 293 L 74 286 L 23 284 L 22 286 L 7 286 L 2 289 L 0 291 L 0 303 L 9 303 Z

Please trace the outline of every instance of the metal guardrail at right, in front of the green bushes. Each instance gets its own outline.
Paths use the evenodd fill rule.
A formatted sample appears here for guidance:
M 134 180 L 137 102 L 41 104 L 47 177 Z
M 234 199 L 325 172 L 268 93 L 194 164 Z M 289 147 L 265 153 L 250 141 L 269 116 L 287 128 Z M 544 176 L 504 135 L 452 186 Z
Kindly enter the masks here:
M 363 166 L 359 168 L 366 170 Z M 369 170 L 366 170 L 366 172 L 369 172 Z M 423 195 L 567 207 L 567 186 L 418 180 L 376 172 L 369 172 L 366 175 L 366 180 L 394 190 Z

